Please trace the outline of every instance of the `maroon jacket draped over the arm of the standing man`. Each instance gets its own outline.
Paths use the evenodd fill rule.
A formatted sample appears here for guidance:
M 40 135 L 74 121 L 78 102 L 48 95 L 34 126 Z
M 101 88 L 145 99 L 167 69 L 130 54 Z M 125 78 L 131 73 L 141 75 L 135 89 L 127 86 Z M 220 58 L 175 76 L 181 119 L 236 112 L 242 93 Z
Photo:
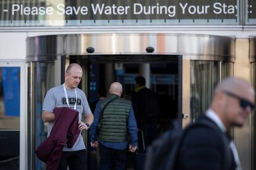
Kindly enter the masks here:
M 53 110 L 55 122 L 49 137 L 36 148 L 36 156 L 47 163 L 47 169 L 58 169 L 63 147 L 72 148 L 80 131 L 78 128 L 79 111 L 69 107 Z

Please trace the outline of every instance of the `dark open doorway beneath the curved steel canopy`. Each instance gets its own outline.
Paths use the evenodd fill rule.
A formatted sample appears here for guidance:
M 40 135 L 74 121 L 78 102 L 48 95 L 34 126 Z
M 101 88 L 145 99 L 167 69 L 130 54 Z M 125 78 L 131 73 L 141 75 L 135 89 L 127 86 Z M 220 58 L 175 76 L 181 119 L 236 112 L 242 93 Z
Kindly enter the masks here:
M 92 111 L 100 97 L 108 96 L 109 85 L 114 81 L 118 81 L 123 86 L 121 97 L 132 101 L 135 78 L 143 76 L 146 79 L 146 86 L 157 94 L 159 113 L 154 120 L 157 123 L 155 136 L 157 138 L 171 128 L 171 121 L 178 118 L 179 101 L 181 101 L 178 95 L 179 89 L 181 90 L 179 86 L 181 65 L 178 58 L 179 55 L 70 55 L 66 65 L 79 63 L 82 66 L 84 73 L 82 79 L 85 79 L 87 84 L 81 83 L 79 87 L 86 92 Z M 103 96 L 104 91 L 106 94 Z M 142 144 L 140 135 L 139 132 L 139 147 L 143 150 L 145 142 Z M 89 138 L 88 133 L 87 138 Z M 88 169 L 95 169 L 98 162 L 96 150 L 90 147 L 90 140 L 87 141 Z M 134 168 L 134 156 L 129 153 L 127 168 Z

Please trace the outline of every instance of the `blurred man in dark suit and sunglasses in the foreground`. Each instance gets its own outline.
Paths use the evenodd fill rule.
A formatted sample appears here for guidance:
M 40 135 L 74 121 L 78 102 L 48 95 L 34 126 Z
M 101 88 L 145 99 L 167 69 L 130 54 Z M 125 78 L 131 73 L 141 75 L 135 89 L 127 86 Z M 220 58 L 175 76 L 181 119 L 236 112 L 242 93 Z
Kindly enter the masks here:
M 236 147 L 227 132 L 245 123 L 254 109 L 254 98 L 254 89 L 244 79 L 223 79 L 215 89 L 211 107 L 197 120 L 211 126 L 189 130 L 182 140 L 175 169 L 241 169 Z

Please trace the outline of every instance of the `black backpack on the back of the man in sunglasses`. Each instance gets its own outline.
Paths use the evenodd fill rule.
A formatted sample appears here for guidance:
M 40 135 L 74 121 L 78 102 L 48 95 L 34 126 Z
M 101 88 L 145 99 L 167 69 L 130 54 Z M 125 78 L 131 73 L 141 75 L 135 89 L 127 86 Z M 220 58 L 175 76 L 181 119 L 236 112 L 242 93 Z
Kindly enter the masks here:
M 158 139 L 156 139 L 150 147 L 147 148 L 147 155 L 145 159 L 145 170 L 171 170 L 174 169 L 176 165 L 176 158 L 179 152 L 179 147 L 186 133 L 198 126 L 207 126 L 216 129 L 214 124 L 207 123 L 206 121 L 200 121 L 198 123 L 190 123 L 185 129 L 180 129 L 177 121 L 173 121 L 172 129 L 164 132 Z M 227 140 L 223 137 L 223 142 Z M 231 161 L 229 158 L 229 148 L 225 148 L 224 151 L 224 161 L 223 169 L 228 169 L 228 162 Z

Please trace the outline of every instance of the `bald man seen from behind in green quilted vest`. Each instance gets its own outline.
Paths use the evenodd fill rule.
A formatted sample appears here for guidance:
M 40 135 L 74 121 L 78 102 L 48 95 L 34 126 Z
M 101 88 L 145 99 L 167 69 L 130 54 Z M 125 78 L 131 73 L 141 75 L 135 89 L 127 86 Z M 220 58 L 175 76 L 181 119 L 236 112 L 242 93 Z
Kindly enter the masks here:
M 100 143 L 100 169 L 126 169 L 127 148 L 130 152 L 137 149 L 137 123 L 132 103 L 121 98 L 122 84 L 112 83 L 109 94 L 96 105 L 91 145 L 97 147 Z

